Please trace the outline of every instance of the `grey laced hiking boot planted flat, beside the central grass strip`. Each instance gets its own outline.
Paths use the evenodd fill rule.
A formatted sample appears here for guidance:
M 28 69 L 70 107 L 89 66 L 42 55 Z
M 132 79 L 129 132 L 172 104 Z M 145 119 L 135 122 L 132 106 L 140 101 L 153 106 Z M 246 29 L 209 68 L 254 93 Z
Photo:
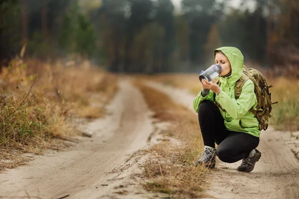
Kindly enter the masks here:
M 205 167 L 208 167 L 210 169 L 213 169 L 216 164 L 216 149 L 205 146 L 203 153 L 200 155 L 201 158 L 199 160 L 196 160 L 193 164 L 195 166 L 197 165 L 204 165 Z

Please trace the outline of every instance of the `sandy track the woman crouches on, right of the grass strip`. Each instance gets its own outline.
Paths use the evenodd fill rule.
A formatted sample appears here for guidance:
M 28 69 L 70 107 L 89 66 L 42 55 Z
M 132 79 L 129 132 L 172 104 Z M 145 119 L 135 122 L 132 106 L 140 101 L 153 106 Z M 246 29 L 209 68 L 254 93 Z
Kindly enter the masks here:
M 187 91 L 153 82 L 148 86 L 167 93 L 172 100 L 193 110 L 195 96 Z M 225 164 L 217 159 L 216 169 L 206 179 L 207 198 L 299 199 L 299 161 L 291 151 L 290 141 L 290 133 L 272 128 L 262 131 L 258 146 L 262 158 L 251 173 L 236 171 L 241 161 Z

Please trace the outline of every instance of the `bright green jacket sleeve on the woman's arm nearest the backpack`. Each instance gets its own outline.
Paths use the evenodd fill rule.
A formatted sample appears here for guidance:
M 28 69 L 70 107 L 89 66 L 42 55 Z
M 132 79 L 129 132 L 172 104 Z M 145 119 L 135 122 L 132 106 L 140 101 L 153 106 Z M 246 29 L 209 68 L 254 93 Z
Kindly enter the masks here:
M 216 95 L 215 100 L 218 101 L 234 119 L 241 119 L 257 102 L 254 93 L 254 83 L 251 80 L 246 81 L 238 100 L 231 99 L 223 91 Z

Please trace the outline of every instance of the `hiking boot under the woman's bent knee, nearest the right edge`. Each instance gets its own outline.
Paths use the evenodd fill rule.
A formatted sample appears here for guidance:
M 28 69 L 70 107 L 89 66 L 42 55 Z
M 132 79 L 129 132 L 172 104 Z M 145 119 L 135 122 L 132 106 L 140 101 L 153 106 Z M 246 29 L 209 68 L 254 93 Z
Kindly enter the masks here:
M 251 172 L 256 162 L 261 158 L 262 153 L 257 149 L 251 150 L 247 158 L 242 160 L 241 165 L 237 168 L 238 171 Z

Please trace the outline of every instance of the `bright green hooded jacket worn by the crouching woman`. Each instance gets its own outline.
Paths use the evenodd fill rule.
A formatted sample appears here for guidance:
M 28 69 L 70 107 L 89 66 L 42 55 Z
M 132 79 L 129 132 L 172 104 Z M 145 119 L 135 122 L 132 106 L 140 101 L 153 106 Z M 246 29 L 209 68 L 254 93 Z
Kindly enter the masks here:
M 244 57 L 237 48 L 222 47 L 214 51 L 214 58 L 217 50 L 222 51 L 230 61 L 232 73 L 228 77 L 220 76 L 221 92 L 216 95 L 215 98 L 215 94 L 211 90 L 205 97 L 202 97 L 200 91 L 193 100 L 193 109 L 195 112 L 198 112 L 198 106 L 203 100 L 212 100 L 213 102 L 216 100 L 226 110 L 223 111 L 219 108 L 224 118 L 224 124 L 228 130 L 249 133 L 253 136 L 260 137 L 259 121 L 249 110 L 251 107 L 256 109 L 257 105 L 254 83 L 251 80 L 246 81 L 239 99 L 235 99 L 235 84 L 242 77 Z

